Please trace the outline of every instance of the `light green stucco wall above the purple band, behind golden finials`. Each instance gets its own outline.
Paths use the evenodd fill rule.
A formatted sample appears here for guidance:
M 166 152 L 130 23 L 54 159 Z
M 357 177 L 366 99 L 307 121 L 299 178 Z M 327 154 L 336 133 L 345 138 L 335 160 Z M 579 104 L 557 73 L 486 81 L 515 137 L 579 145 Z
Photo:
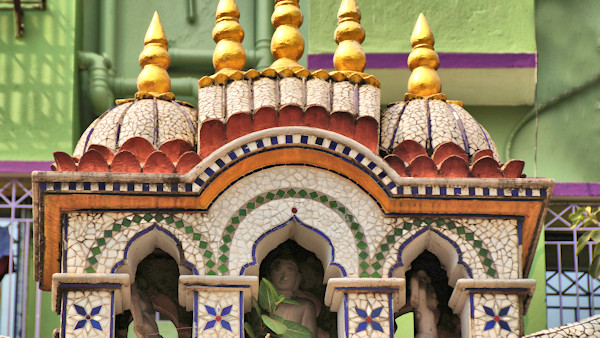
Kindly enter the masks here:
M 533 0 L 358 0 L 367 53 L 409 52 L 410 34 L 423 12 L 435 48 L 452 53 L 535 53 Z M 310 54 L 332 53 L 339 1 L 310 1 Z

